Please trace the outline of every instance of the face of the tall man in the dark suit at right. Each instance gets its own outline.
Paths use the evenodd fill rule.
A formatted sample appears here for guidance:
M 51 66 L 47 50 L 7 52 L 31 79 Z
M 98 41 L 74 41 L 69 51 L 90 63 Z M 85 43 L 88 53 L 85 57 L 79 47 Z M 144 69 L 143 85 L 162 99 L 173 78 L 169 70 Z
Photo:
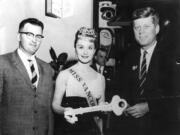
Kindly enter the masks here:
M 133 21 L 133 30 L 136 41 L 143 47 L 149 48 L 156 41 L 159 25 L 153 23 L 152 16 Z

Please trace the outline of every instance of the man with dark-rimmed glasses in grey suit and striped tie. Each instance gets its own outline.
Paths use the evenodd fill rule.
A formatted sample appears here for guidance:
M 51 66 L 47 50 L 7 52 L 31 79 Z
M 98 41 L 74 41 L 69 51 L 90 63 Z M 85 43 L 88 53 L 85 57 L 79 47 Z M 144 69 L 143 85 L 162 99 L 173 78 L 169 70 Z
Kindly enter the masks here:
M 0 135 L 53 135 L 53 70 L 35 56 L 44 25 L 19 24 L 19 47 L 0 56 Z

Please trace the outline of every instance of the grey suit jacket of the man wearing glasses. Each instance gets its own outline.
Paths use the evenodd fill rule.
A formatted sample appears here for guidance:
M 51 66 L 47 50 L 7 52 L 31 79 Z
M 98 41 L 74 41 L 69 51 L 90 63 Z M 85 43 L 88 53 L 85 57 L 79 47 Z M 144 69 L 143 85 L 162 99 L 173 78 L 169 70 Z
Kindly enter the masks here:
M 52 135 L 53 70 L 36 58 L 34 90 L 17 51 L 0 56 L 0 135 Z

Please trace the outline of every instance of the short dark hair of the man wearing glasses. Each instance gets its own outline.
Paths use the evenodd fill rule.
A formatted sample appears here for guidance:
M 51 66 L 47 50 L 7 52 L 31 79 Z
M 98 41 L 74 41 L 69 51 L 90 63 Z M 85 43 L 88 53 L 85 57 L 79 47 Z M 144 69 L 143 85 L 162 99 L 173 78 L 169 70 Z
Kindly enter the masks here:
M 37 26 L 40 26 L 42 28 L 42 30 L 44 29 L 44 24 L 36 19 L 36 18 L 27 18 L 27 19 L 24 19 L 21 21 L 21 23 L 19 24 L 19 31 L 25 26 L 25 24 L 27 23 L 30 23 L 30 24 L 33 24 L 33 25 L 37 25 Z

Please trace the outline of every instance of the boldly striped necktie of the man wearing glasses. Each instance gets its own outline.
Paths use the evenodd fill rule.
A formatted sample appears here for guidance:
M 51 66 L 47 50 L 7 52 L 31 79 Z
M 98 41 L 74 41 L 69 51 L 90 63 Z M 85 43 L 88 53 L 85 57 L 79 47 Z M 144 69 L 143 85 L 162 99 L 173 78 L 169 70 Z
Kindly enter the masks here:
M 36 87 L 36 83 L 37 83 L 37 73 L 36 73 L 36 71 L 35 71 L 33 61 L 32 61 L 32 60 L 28 60 L 28 61 L 29 61 L 29 66 L 30 66 L 31 73 L 32 73 L 31 83 L 32 83 L 32 85 L 33 85 L 34 87 Z

